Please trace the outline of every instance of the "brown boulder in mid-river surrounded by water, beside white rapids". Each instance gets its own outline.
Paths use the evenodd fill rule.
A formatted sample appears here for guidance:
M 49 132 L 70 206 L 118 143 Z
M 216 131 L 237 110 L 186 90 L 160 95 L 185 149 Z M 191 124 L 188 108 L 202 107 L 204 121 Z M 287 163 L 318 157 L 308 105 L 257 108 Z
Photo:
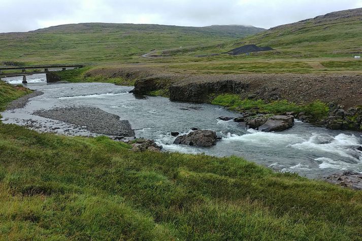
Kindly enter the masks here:
M 174 144 L 211 147 L 216 143 L 216 132 L 212 130 L 196 130 L 176 138 Z

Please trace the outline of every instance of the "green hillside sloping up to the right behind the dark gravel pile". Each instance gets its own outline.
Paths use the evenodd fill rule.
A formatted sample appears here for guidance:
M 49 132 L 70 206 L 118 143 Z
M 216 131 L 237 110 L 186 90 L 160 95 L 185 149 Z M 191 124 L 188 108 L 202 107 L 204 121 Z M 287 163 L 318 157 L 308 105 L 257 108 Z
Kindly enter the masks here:
M 197 54 L 222 53 L 255 44 L 277 50 L 274 53 L 258 53 L 257 56 L 344 57 L 362 52 L 361 32 L 362 8 L 359 8 L 273 27 L 239 41 L 210 46 L 204 51 L 197 51 Z

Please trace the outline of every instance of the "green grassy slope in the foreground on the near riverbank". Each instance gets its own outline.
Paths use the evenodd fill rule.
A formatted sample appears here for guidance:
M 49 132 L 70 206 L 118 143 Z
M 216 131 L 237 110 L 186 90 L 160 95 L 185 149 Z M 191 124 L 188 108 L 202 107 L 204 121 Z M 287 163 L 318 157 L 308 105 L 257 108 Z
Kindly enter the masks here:
M 2 123 L 0 153 L 0 239 L 362 240 L 362 192 L 238 157 Z

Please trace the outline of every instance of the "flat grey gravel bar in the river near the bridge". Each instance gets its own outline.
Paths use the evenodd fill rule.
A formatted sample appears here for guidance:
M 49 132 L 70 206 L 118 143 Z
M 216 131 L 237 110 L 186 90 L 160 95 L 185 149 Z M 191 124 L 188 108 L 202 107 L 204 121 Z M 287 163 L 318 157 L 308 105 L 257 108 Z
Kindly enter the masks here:
M 119 120 L 119 116 L 95 107 L 55 108 L 34 114 L 77 125 L 98 134 L 122 137 L 135 135 L 127 120 Z

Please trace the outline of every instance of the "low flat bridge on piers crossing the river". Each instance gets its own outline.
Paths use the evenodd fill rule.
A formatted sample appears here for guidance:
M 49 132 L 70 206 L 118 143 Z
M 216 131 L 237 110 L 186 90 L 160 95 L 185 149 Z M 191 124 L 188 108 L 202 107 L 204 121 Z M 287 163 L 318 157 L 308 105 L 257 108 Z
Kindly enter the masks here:
M 23 77 L 23 84 L 26 84 L 26 76 L 28 75 L 37 75 L 37 74 L 46 74 L 47 82 L 52 82 L 51 78 L 52 76 L 49 74 L 49 72 L 57 72 L 65 71 L 67 68 L 81 68 L 83 67 L 83 64 L 52 64 L 52 65 L 32 65 L 32 66 L 9 66 L 9 67 L 0 67 L 0 80 L 3 77 L 16 77 L 16 76 L 22 76 Z M 18 70 L 21 70 L 21 72 L 16 72 Z M 29 70 L 27 72 L 27 70 Z M 41 70 L 41 71 L 35 71 L 35 70 Z M 44 70 L 44 71 L 42 71 Z M 5 71 L 5 72 L 4 72 Z M 7 72 L 11 71 L 11 72 Z

